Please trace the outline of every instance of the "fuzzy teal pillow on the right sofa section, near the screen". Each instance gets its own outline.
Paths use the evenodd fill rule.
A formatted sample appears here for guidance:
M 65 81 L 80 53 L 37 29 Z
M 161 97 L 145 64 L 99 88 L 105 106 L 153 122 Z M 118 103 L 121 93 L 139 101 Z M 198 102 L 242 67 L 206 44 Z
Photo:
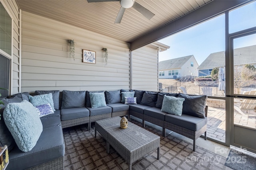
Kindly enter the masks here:
M 181 116 L 184 100 L 184 98 L 164 95 L 161 111 Z

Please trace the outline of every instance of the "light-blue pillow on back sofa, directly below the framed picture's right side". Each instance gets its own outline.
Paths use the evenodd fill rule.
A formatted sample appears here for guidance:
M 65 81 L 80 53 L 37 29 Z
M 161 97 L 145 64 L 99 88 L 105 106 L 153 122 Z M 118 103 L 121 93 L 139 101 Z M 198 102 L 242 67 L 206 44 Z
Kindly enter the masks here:
M 90 101 L 91 101 L 91 107 L 92 108 L 107 106 L 104 92 L 90 93 Z

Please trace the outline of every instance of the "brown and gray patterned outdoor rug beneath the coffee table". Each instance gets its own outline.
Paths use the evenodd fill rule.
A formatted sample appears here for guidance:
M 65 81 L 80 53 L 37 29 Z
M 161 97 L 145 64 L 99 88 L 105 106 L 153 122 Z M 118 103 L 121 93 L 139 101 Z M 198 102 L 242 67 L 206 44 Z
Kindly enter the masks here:
M 141 127 L 141 123 L 131 119 Z M 226 158 L 193 145 L 173 135 L 162 137 L 162 132 L 146 125 L 145 129 L 160 136 L 160 159 L 157 150 L 132 164 L 133 170 L 231 170 L 225 166 Z M 87 124 L 63 129 L 65 139 L 65 170 L 126 170 L 128 164 L 110 146 L 106 152 L 106 141 L 97 133 L 94 125 L 88 131 Z

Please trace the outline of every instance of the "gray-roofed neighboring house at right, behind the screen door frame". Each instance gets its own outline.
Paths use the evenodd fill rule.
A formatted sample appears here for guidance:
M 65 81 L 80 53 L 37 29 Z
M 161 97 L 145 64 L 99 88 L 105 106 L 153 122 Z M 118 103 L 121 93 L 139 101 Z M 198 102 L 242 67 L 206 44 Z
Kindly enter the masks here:
M 256 66 L 256 45 L 234 49 L 234 65 L 242 66 L 244 64 Z M 208 76 L 213 68 L 220 68 L 225 65 L 225 51 L 211 53 L 198 66 L 198 76 Z

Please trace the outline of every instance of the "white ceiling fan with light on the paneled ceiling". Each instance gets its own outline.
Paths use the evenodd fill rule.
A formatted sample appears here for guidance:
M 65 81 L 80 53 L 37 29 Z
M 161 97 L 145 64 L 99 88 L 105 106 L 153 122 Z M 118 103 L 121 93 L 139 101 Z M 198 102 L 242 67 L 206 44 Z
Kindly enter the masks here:
M 111 2 L 111 1 L 120 1 L 121 8 L 116 16 L 116 20 L 114 23 L 121 23 L 121 20 L 124 16 L 124 11 L 127 8 L 133 7 L 135 10 L 144 15 L 148 20 L 150 20 L 155 14 L 150 12 L 150 10 L 146 9 L 144 6 L 135 2 L 135 0 L 87 0 L 87 2 Z

